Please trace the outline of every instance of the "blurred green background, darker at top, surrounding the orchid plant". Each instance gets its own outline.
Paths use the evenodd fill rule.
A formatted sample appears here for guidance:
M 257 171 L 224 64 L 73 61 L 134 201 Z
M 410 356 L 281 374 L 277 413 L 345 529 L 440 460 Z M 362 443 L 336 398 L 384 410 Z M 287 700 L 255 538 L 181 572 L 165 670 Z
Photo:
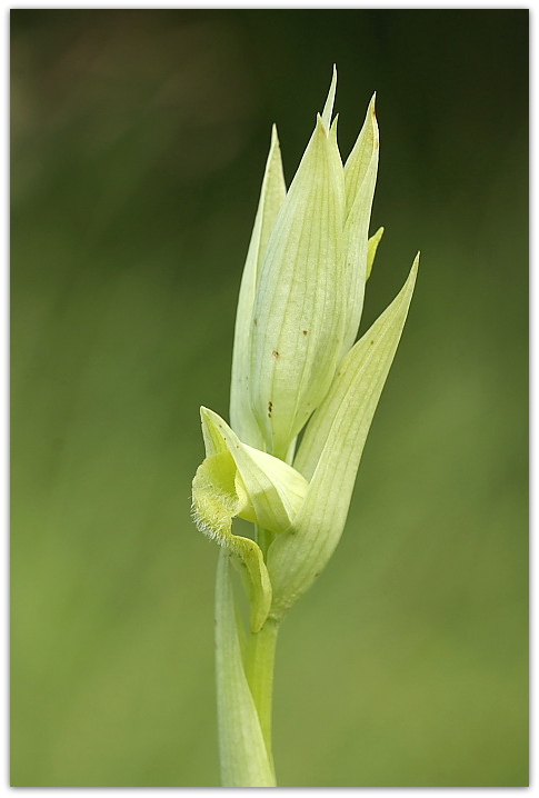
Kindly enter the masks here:
M 12 10 L 14 786 L 219 784 L 198 408 L 278 123 L 373 90 L 362 327 L 412 307 L 342 541 L 283 625 L 282 786 L 528 780 L 528 11 Z

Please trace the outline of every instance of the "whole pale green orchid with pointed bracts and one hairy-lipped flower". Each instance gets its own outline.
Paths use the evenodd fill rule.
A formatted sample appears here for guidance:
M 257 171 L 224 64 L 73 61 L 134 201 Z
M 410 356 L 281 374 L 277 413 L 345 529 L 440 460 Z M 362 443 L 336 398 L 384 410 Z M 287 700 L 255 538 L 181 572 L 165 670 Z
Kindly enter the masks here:
M 288 191 L 272 130 L 238 301 L 230 425 L 201 408 L 206 459 L 193 479 L 192 508 L 199 529 L 221 545 L 216 656 L 224 787 L 276 786 L 279 625 L 339 542 L 418 269 L 419 255 L 396 299 L 355 343 L 383 232 L 369 239 L 379 134 L 373 97 L 342 164 L 332 120 L 336 84 L 333 68 Z M 234 533 L 234 518 L 253 525 L 250 537 Z

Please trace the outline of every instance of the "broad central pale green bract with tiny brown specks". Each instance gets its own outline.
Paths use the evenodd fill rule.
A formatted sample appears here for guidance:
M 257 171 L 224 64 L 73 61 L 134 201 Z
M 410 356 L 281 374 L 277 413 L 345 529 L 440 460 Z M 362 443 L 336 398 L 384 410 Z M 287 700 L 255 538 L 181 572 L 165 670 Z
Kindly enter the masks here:
M 266 448 L 285 459 L 323 399 L 343 335 L 343 172 L 317 127 L 262 262 L 251 335 L 251 407 Z

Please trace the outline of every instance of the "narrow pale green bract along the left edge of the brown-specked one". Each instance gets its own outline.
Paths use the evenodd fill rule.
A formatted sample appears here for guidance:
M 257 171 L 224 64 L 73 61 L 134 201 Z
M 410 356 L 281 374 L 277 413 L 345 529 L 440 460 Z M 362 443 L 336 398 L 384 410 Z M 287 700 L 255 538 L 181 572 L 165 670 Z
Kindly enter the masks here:
M 230 422 L 241 440 L 259 449 L 263 448 L 263 438 L 249 403 L 249 335 L 258 273 L 268 239 L 286 193 L 279 139 L 277 129 L 273 126 L 254 228 L 241 278 L 236 315 L 232 382 L 230 388 Z

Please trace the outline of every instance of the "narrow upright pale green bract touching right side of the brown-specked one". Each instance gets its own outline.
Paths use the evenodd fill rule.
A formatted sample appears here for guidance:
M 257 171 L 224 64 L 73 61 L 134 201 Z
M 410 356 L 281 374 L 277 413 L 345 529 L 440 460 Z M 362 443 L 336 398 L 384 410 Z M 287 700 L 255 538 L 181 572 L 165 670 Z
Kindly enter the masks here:
M 378 122 L 375 113 L 375 97 L 372 97 L 361 132 L 345 166 L 347 196 L 345 225 L 346 295 L 348 309 L 342 355 L 346 355 L 356 340 L 363 309 L 365 283 L 368 270 L 369 225 L 378 174 Z

